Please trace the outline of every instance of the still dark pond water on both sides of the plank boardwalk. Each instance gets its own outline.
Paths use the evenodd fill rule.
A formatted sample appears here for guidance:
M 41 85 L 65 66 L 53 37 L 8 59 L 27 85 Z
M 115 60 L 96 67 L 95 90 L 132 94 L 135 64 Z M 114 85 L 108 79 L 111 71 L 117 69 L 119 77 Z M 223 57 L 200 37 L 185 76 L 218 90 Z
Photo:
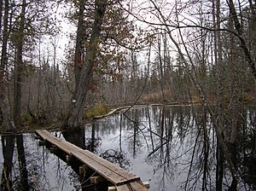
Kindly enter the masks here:
M 208 120 L 205 143 L 200 111 L 199 107 L 136 107 L 86 124 L 84 130 L 53 134 L 133 172 L 150 183 L 151 191 L 202 190 L 204 176 L 206 188 L 215 190 L 216 137 Z M 238 189 L 255 190 L 256 175 L 250 168 L 255 168 L 255 161 L 251 165 L 247 159 L 255 149 L 249 147 L 255 111 L 243 114 L 247 140 L 243 154 L 238 154 Z M 76 167 L 67 165 L 48 148 L 39 147 L 34 134 L 1 136 L 1 140 L 2 185 L 7 184 L 3 177 L 8 176 L 2 171 L 4 166 L 10 171 L 9 185 L 13 190 L 108 190 L 108 185 L 96 188 L 88 180 L 81 180 Z M 230 181 L 226 170 L 224 190 Z

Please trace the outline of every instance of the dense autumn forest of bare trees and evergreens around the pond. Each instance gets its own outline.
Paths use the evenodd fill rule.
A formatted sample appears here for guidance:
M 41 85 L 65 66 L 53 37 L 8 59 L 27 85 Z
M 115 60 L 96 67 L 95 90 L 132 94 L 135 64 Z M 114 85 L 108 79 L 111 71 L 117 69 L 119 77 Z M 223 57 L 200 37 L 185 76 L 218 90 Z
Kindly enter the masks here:
M 225 163 L 236 190 L 242 135 L 256 157 L 256 124 L 240 125 L 256 103 L 255 0 L 0 0 L 0 14 L 1 132 L 79 128 L 92 108 L 196 103 L 218 138 L 216 182 Z

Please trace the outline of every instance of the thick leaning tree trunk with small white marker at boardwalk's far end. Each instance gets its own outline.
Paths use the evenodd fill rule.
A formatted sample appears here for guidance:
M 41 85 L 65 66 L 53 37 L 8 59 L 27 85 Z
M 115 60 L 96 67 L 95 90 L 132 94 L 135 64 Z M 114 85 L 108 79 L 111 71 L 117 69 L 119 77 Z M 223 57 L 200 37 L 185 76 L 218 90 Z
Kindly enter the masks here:
M 96 52 L 98 49 L 99 38 L 101 34 L 102 22 L 107 7 L 108 0 L 96 1 L 95 20 L 90 36 L 89 48 L 85 56 L 85 61 L 81 73 L 79 75 L 79 83 L 75 90 L 75 99 L 69 107 L 67 126 L 78 128 L 82 124 L 82 116 L 84 113 L 84 102 L 89 91 L 90 79 L 93 76 L 93 66 L 96 59 Z

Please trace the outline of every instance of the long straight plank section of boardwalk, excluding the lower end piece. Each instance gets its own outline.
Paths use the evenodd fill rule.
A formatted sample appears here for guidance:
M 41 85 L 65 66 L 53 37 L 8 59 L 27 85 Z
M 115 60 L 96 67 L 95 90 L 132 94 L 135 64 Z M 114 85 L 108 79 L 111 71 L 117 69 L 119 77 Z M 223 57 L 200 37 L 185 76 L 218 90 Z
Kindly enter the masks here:
M 102 175 L 102 177 L 105 177 L 116 186 L 140 180 L 140 177 L 113 165 L 108 162 L 108 160 L 100 158 L 95 153 L 90 153 L 90 151 L 83 150 L 70 142 L 66 142 L 60 138 L 52 136 L 48 130 L 36 130 L 36 132 L 39 136 L 42 136 L 44 140 L 54 144 L 57 148 L 60 148 L 64 152 L 79 159 L 85 165 L 88 165 L 91 169 L 97 171 Z

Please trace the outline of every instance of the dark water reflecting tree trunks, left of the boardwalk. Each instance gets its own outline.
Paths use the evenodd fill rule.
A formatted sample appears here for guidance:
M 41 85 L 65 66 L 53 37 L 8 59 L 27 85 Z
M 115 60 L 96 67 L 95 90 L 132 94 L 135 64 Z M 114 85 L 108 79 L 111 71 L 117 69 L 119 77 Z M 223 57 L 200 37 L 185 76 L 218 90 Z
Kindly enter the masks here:
M 77 190 L 79 176 L 34 135 L 1 136 L 1 190 Z

